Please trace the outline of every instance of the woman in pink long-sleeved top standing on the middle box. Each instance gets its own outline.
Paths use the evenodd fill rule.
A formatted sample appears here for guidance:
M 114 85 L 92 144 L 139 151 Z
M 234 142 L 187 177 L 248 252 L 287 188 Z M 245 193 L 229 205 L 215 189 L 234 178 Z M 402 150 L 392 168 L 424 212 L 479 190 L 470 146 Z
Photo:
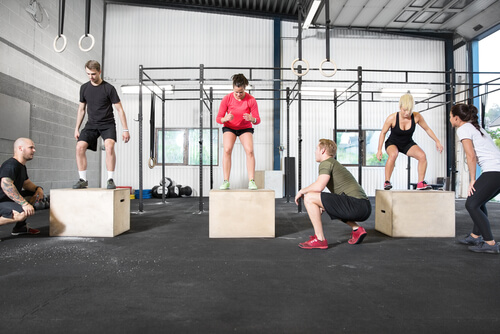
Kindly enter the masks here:
M 257 101 L 245 92 L 248 80 L 243 74 L 235 74 L 233 80 L 233 92 L 224 96 L 217 114 L 217 123 L 224 125 L 222 128 L 222 142 L 224 156 L 222 158 L 222 169 L 224 171 L 224 182 L 220 189 L 229 189 L 229 174 L 231 173 L 231 153 L 233 152 L 236 137 L 245 149 L 248 170 L 248 189 L 256 190 L 254 181 L 255 156 L 253 153 L 253 127 L 260 123 L 259 108 Z

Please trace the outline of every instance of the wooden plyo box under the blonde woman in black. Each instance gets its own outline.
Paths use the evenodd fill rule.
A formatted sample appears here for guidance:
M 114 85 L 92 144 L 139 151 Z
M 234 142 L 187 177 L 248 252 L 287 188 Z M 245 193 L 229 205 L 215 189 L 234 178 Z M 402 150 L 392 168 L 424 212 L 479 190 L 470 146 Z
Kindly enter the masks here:
M 391 237 L 454 237 L 455 193 L 377 190 L 375 229 Z

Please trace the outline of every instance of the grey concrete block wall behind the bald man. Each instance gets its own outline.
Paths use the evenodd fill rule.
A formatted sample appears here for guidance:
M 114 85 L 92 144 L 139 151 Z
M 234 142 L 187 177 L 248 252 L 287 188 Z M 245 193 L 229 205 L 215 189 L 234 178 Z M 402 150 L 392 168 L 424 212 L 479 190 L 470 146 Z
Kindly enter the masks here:
M 95 59 L 102 64 L 104 0 L 92 1 L 90 33 L 96 42 L 89 52 L 78 47 L 85 33 L 85 1 L 66 2 L 63 33 L 68 44 L 61 53 L 53 49 L 59 2 L 38 3 L 49 16 L 43 27 L 26 12 L 29 1 L 0 0 L 0 93 L 30 103 L 30 137 L 36 154 L 27 164 L 28 175 L 50 192 L 71 187 L 78 179 L 73 134 L 79 89 L 88 80 L 85 62 Z M 13 145 L 12 140 L 1 137 L 0 163 L 12 156 Z M 100 183 L 100 156 L 99 151 L 87 154 L 92 187 Z

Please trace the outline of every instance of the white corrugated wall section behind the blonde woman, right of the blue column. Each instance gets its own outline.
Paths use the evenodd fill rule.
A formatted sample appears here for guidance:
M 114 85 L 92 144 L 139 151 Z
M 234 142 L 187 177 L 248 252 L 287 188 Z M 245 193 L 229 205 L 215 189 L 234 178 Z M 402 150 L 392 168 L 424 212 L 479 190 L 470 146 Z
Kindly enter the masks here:
M 283 23 L 282 25 L 282 62 L 284 67 L 291 65 L 292 61 L 298 57 L 298 44 L 296 41 L 297 29 L 293 23 Z M 361 32 L 350 30 L 334 30 L 330 40 L 330 59 L 335 61 L 339 69 L 356 70 L 361 66 L 364 70 L 414 70 L 414 71 L 444 71 L 444 43 L 441 41 L 423 40 L 409 37 L 396 37 L 373 32 Z M 307 30 L 303 32 L 302 58 L 306 59 L 311 68 L 305 80 L 325 80 L 325 77 L 317 70 L 321 61 L 326 55 L 325 34 L 318 30 Z M 313 51 L 314 50 L 314 51 Z M 283 77 L 294 79 L 290 71 L 286 71 Z M 365 81 L 403 81 L 404 74 L 391 72 L 363 72 Z M 419 82 L 443 82 L 443 74 L 412 74 L 409 81 Z M 331 78 L 331 86 L 347 86 L 348 83 L 341 81 L 357 81 L 356 71 L 339 71 Z M 314 86 L 318 84 L 305 82 L 304 86 Z M 328 83 L 326 84 L 328 85 Z M 383 86 L 382 86 L 383 85 Z M 355 86 L 357 89 L 357 86 Z M 382 87 L 391 87 L 388 84 L 372 83 L 363 85 L 363 91 L 379 90 Z M 392 87 L 407 88 L 407 85 L 394 84 Z M 426 85 L 433 92 L 444 92 L 445 85 Z M 421 88 L 424 88 L 421 87 Z M 366 96 L 366 98 L 369 98 Z M 443 102 L 444 96 L 436 101 Z M 353 101 L 357 101 L 354 99 Z M 363 108 L 363 129 L 381 129 L 387 116 L 398 111 L 396 102 L 364 102 Z M 426 106 L 418 105 L 415 111 L 424 111 Z M 290 156 L 295 156 L 298 160 L 298 123 L 297 102 L 291 107 L 290 117 Z M 426 122 L 434 131 L 446 147 L 446 122 L 447 115 L 444 107 L 435 108 L 423 113 Z M 282 109 L 282 131 L 281 140 L 286 145 L 286 109 Z M 317 163 L 314 162 L 314 149 L 320 138 L 333 137 L 334 113 L 332 102 L 302 102 L 302 186 L 306 186 L 317 177 Z M 358 105 L 357 102 L 347 102 L 338 109 L 338 129 L 358 128 Z M 414 139 L 426 152 L 428 167 L 426 180 L 435 182 L 439 176 L 446 175 L 446 155 L 436 151 L 434 141 L 425 132 L 417 127 Z M 285 151 L 286 155 L 286 151 Z M 393 173 L 392 182 L 397 189 L 407 187 L 407 159 L 400 155 L 396 161 L 396 168 Z M 354 175 L 357 175 L 357 168 Z M 416 182 L 417 164 L 412 159 L 411 181 Z M 375 189 L 381 188 L 384 182 L 383 167 L 363 168 L 363 187 L 368 195 L 373 196 Z

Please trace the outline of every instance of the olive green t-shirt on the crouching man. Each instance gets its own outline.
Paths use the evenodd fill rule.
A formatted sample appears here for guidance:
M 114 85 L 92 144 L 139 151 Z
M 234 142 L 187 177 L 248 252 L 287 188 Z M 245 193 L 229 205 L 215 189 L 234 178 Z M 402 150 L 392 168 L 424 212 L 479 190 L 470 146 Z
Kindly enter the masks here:
M 330 175 L 326 187 L 332 194 L 344 193 L 350 197 L 368 199 L 354 176 L 334 158 L 328 158 L 319 164 L 319 175 L 322 174 Z

